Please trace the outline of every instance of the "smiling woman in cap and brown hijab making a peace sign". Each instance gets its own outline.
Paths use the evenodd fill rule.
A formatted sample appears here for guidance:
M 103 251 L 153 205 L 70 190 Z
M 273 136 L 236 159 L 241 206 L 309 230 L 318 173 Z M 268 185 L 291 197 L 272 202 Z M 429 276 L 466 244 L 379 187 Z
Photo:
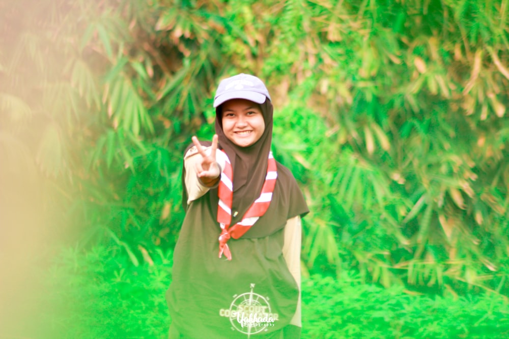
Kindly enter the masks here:
M 184 156 L 186 217 L 166 293 L 170 337 L 300 337 L 300 218 L 308 212 L 290 171 L 270 152 L 265 84 L 220 82 L 212 143 Z

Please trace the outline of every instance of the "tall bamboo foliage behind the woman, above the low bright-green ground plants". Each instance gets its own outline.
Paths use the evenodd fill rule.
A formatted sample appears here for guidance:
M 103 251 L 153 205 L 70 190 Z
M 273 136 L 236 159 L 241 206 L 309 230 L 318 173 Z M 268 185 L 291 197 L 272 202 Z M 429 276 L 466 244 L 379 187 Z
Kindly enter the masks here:
M 0 5 L 2 177 L 43 182 L 46 227 L 133 264 L 171 248 L 182 151 L 248 72 L 312 210 L 309 272 L 508 293 L 507 0 L 29 5 Z

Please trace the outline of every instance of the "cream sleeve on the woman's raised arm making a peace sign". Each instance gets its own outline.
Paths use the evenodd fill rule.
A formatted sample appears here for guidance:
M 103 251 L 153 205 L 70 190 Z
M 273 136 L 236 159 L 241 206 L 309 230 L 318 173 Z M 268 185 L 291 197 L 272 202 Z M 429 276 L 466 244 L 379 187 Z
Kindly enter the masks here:
M 205 152 L 210 152 L 211 147 L 206 147 Z M 225 163 L 225 155 L 221 151 L 216 152 L 216 161 L 219 164 L 219 167 L 224 168 Z M 195 146 L 192 146 L 184 156 L 184 168 L 185 168 L 185 178 L 184 182 L 186 184 L 187 191 L 187 204 L 190 204 L 191 201 L 196 200 L 202 197 L 205 193 L 207 193 L 211 187 L 205 186 L 202 181 L 196 176 L 196 163 L 202 161 L 202 156 L 198 152 Z

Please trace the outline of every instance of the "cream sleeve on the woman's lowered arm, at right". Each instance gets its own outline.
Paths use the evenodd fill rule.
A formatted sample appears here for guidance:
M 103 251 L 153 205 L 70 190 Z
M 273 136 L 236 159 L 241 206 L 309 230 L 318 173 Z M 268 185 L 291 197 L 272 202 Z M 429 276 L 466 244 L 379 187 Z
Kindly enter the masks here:
M 290 321 L 291 325 L 302 327 L 301 323 L 301 301 L 300 301 L 300 248 L 301 248 L 302 226 L 300 216 L 291 218 L 285 226 L 285 242 L 282 253 L 288 265 L 290 273 L 297 282 L 299 287 L 299 300 L 297 302 L 297 310 Z

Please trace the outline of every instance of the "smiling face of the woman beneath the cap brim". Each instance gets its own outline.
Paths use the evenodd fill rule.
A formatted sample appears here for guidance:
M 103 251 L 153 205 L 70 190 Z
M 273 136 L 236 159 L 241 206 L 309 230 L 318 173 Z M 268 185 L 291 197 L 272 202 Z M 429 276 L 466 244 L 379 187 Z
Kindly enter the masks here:
M 245 99 L 232 99 L 221 106 L 224 135 L 241 147 L 257 142 L 265 131 L 260 105 Z

